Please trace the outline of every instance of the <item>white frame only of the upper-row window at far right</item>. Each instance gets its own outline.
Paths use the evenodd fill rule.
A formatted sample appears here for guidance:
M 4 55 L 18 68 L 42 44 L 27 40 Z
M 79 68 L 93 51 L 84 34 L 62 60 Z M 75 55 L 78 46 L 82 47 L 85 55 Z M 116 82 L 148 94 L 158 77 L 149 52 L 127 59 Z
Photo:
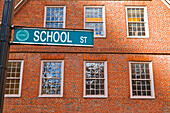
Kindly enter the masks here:
M 149 38 L 149 28 L 148 28 L 148 16 L 147 16 L 147 7 L 146 6 L 125 6 L 126 8 L 126 30 L 127 38 Z M 145 36 L 129 36 L 129 27 L 128 27 L 128 8 L 143 8 L 144 9 L 144 25 L 145 25 Z M 135 22 L 134 22 L 135 23 Z

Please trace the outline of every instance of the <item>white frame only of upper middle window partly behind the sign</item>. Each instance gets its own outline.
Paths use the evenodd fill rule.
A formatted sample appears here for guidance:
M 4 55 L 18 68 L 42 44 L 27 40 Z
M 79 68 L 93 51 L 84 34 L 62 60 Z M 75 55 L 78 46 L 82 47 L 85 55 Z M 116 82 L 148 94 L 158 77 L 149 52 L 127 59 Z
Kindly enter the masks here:
M 105 22 L 105 6 L 84 6 L 84 29 L 86 29 L 86 8 L 102 8 L 103 9 L 103 36 L 95 36 L 95 38 L 106 38 L 106 22 Z

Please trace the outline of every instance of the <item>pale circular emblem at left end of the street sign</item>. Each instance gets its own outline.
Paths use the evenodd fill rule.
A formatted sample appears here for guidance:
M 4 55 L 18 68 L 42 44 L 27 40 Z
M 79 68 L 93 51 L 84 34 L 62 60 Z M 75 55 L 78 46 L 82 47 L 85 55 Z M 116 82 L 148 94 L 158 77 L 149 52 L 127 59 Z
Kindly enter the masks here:
M 16 33 L 16 38 L 19 40 L 19 41 L 26 41 L 28 40 L 29 38 L 29 32 L 27 30 L 19 30 L 17 33 Z

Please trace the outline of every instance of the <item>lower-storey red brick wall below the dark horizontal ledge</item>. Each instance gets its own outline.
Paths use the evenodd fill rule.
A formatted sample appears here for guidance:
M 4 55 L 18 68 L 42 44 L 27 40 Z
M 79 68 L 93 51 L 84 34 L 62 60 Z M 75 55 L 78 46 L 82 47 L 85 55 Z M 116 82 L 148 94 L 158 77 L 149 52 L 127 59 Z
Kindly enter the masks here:
M 5 98 L 4 112 L 153 112 L 169 110 L 170 57 L 164 55 L 11 53 L 23 59 L 22 96 Z M 40 98 L 40 62 L 64 59 L 62 98 Z M 83 61 L 107 60 L 108 98 L 83 98 Z M 77 62 L 79 61 L 79 62 Z M 128 61 L 152 61 L 155 99 L 130 99 Z

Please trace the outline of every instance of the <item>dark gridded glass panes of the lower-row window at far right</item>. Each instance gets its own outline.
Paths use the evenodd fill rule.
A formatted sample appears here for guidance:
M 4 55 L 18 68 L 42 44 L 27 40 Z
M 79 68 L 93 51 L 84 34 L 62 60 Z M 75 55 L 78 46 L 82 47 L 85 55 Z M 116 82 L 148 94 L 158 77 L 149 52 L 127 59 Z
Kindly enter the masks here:
M 132 96 L 151 96 L 149 63 L 131 63 Z

